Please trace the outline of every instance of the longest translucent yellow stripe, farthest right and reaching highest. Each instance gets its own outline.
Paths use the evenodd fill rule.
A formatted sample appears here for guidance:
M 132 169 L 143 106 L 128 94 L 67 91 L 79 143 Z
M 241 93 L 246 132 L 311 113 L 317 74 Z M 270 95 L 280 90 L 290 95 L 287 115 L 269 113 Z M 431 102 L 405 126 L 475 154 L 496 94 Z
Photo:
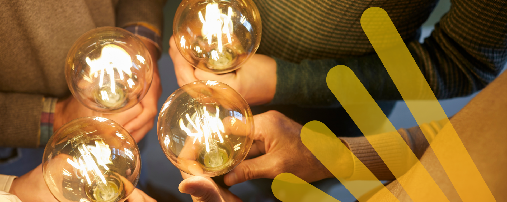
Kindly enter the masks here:
M 378 7 L 367 9 L 361 16 L 361 27 L 417 123 L 447 119 L 387 13 Z M 447 145 L 431 148 L 462 201 L 496 201 L 454 127 L 448 125 L 451 128 L 445 133 Z M 424 135 L 428 141 L 432 138 L 430 134 Z M 455 151 L 453 155 L 447 152 L 449 148 Z

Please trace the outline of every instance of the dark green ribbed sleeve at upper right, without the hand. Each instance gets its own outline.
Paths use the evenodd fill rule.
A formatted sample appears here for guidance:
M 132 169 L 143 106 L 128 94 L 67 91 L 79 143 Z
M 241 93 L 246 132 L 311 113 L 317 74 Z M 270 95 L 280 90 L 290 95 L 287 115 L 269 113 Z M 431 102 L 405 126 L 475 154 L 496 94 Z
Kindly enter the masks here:
M 465 96 L 484 88 L 499 74 L 507 58 L 504 1 L 452 1 L 452 7 L 424 43 L 407 44 L 437 98 Z M 270 104 L 332 106 L 328 71 L 345 65 L 379 100 L 400 99 L 376 54 L 336 60 L 288 63 L 279 59 L 276 93 Z

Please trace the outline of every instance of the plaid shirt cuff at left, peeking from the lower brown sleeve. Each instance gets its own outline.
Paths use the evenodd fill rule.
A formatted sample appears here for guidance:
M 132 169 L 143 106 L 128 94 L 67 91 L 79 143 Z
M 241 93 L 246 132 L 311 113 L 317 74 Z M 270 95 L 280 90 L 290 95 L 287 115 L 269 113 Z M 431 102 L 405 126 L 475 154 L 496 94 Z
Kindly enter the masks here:
M 55 120 L 55 97 L 44 97 L 42 102 L 42 115 L 41 115 L 41 141 L 40 145 L 44 146 L 48 142 L 51 135 L 53 135 L 53 122 Z

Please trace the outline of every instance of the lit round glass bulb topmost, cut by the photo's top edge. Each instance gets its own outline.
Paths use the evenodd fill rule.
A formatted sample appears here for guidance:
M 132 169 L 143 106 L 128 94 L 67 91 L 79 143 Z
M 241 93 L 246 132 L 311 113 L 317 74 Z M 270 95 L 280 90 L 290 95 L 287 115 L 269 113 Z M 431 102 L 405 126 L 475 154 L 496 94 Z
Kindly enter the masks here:
M 184 0 L 174 16 L 179 52 L 192 66 L 213 73 L 238 69 L 257 51 L 261 31 L 251 0 Z

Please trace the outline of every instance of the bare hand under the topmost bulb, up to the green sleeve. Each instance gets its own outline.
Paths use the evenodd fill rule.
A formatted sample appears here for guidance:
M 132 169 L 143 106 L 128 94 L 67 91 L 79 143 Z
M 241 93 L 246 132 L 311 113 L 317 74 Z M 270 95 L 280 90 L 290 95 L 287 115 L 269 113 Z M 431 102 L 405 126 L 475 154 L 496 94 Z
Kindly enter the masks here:
M 275 96 L 276 61 L 271 57 L 255 54 L 236 71 L 213 74 L 192 67 L 179 53 L 173 36 L 169 39 L 169 46 L 179 86 L 197 80 L 219 81 L 238 91 L 249 105 L 269 103 Z

